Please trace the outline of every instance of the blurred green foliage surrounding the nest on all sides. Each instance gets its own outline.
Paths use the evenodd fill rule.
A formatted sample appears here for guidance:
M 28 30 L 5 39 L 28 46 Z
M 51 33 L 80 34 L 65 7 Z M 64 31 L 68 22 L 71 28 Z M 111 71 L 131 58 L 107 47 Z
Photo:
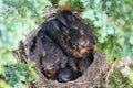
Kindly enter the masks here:
M 93 28 L 99 38 L 95 47 L 106 54 L 109 63 L 133 58 L 133 0 L 0 0 L 0 88 L 27 88 L 21 84 L 25 77 L 38 78 L 24 73 L 33 72 L 32 65 L 18 63 L 11 51 L 43 21 L 45 6 L 63 4 L 83 8 L 80 15 Z M 122 68 L 113 69 L 110 88 L 133 88 L 133 65 L 129 67 L 124 80 L 120 78 Z

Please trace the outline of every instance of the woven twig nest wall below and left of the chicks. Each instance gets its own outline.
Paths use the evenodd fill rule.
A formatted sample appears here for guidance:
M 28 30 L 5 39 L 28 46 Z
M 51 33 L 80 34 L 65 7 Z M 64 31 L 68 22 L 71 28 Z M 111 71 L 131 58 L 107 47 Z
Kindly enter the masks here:
M 33 37 L 38 33 L 38 30 L 33 30 L 28 34 L 27 40 L 21 42 L 19 50 L 16 54 L 21 63 L 29 63 L 28 50 L 30 48 Z M 38 43 L 37 43 L 38 44 Z M 33 88 L 90 88 L 96 86 L 99 79 L 103 77 L 109 68 L 105 55 L 100 51 L 93 51 L 93 62 L 89 66 L 88 70 L 79 77 L 76 80 L 68 82 L 59 82 L 57 80 L 48 80 L 39 70 L 39 66 L 35 65 L 34 70 L 39 75 L 39 80 L 30 82 Z M 38 64 L 38 61 L 34 61 Z

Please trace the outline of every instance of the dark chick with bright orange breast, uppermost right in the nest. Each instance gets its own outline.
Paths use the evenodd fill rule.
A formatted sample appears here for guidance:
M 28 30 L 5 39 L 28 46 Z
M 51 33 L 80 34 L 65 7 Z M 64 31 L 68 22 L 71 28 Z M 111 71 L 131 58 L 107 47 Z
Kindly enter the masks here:
M 69 29 L 70 44 L 75 57 L 83 57 L 88 51 L 93 50 L 93 45 L 98 40 L 88 24 L 83 23 L 69 10 L 61 11 L 57 18 Z

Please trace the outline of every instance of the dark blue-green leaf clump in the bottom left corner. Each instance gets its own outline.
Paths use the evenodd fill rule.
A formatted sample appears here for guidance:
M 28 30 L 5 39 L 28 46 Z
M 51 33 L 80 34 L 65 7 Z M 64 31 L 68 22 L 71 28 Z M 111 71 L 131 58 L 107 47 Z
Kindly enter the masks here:
M 24 85 L 21 81 L 38 79 L 35 72 L 32 68 L 33 64 L 12 64 L 7 65 L 4 70 L 6 81 L 13 88 Z M 31 74 L 32 73 L 32 74 Z

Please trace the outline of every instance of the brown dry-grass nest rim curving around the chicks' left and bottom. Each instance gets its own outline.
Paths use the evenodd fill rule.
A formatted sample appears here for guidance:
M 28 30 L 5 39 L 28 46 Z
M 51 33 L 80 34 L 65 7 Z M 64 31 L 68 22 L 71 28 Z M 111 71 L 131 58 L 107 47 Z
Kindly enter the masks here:
M 31 31 L 25 36 L 25 40 L 20 42 L 19 48 L 14 51 L 16 56 L 21 63 L 35 63 L 34 70 L 39 76 L 39 79 L 27 81 L 29 82 L 29 88 L 93 88 L 98 85 L 98 81 L 102 79 L 108 73 L 106 70 L 109 69 L 109 64 L 106 62 L 105 55 L 101 51 L 94 50 L 92 52 L 93 62 L 88 67 L 86 72 L 75 80 L 59 82 L 57 80 L 47 79 L 40 70 L 39 55 L 40 52 L 42 52 L 42 47 L 40 45 L 39 38 L 34 41 L 34 37 L 38 36 L 38 32 L 39 29 Z M 37 46 L 35 48 L 33 47 L 34 42 Z M 31 53 L 30 50 L 32 48 L 34 48 L 34 51 Z

